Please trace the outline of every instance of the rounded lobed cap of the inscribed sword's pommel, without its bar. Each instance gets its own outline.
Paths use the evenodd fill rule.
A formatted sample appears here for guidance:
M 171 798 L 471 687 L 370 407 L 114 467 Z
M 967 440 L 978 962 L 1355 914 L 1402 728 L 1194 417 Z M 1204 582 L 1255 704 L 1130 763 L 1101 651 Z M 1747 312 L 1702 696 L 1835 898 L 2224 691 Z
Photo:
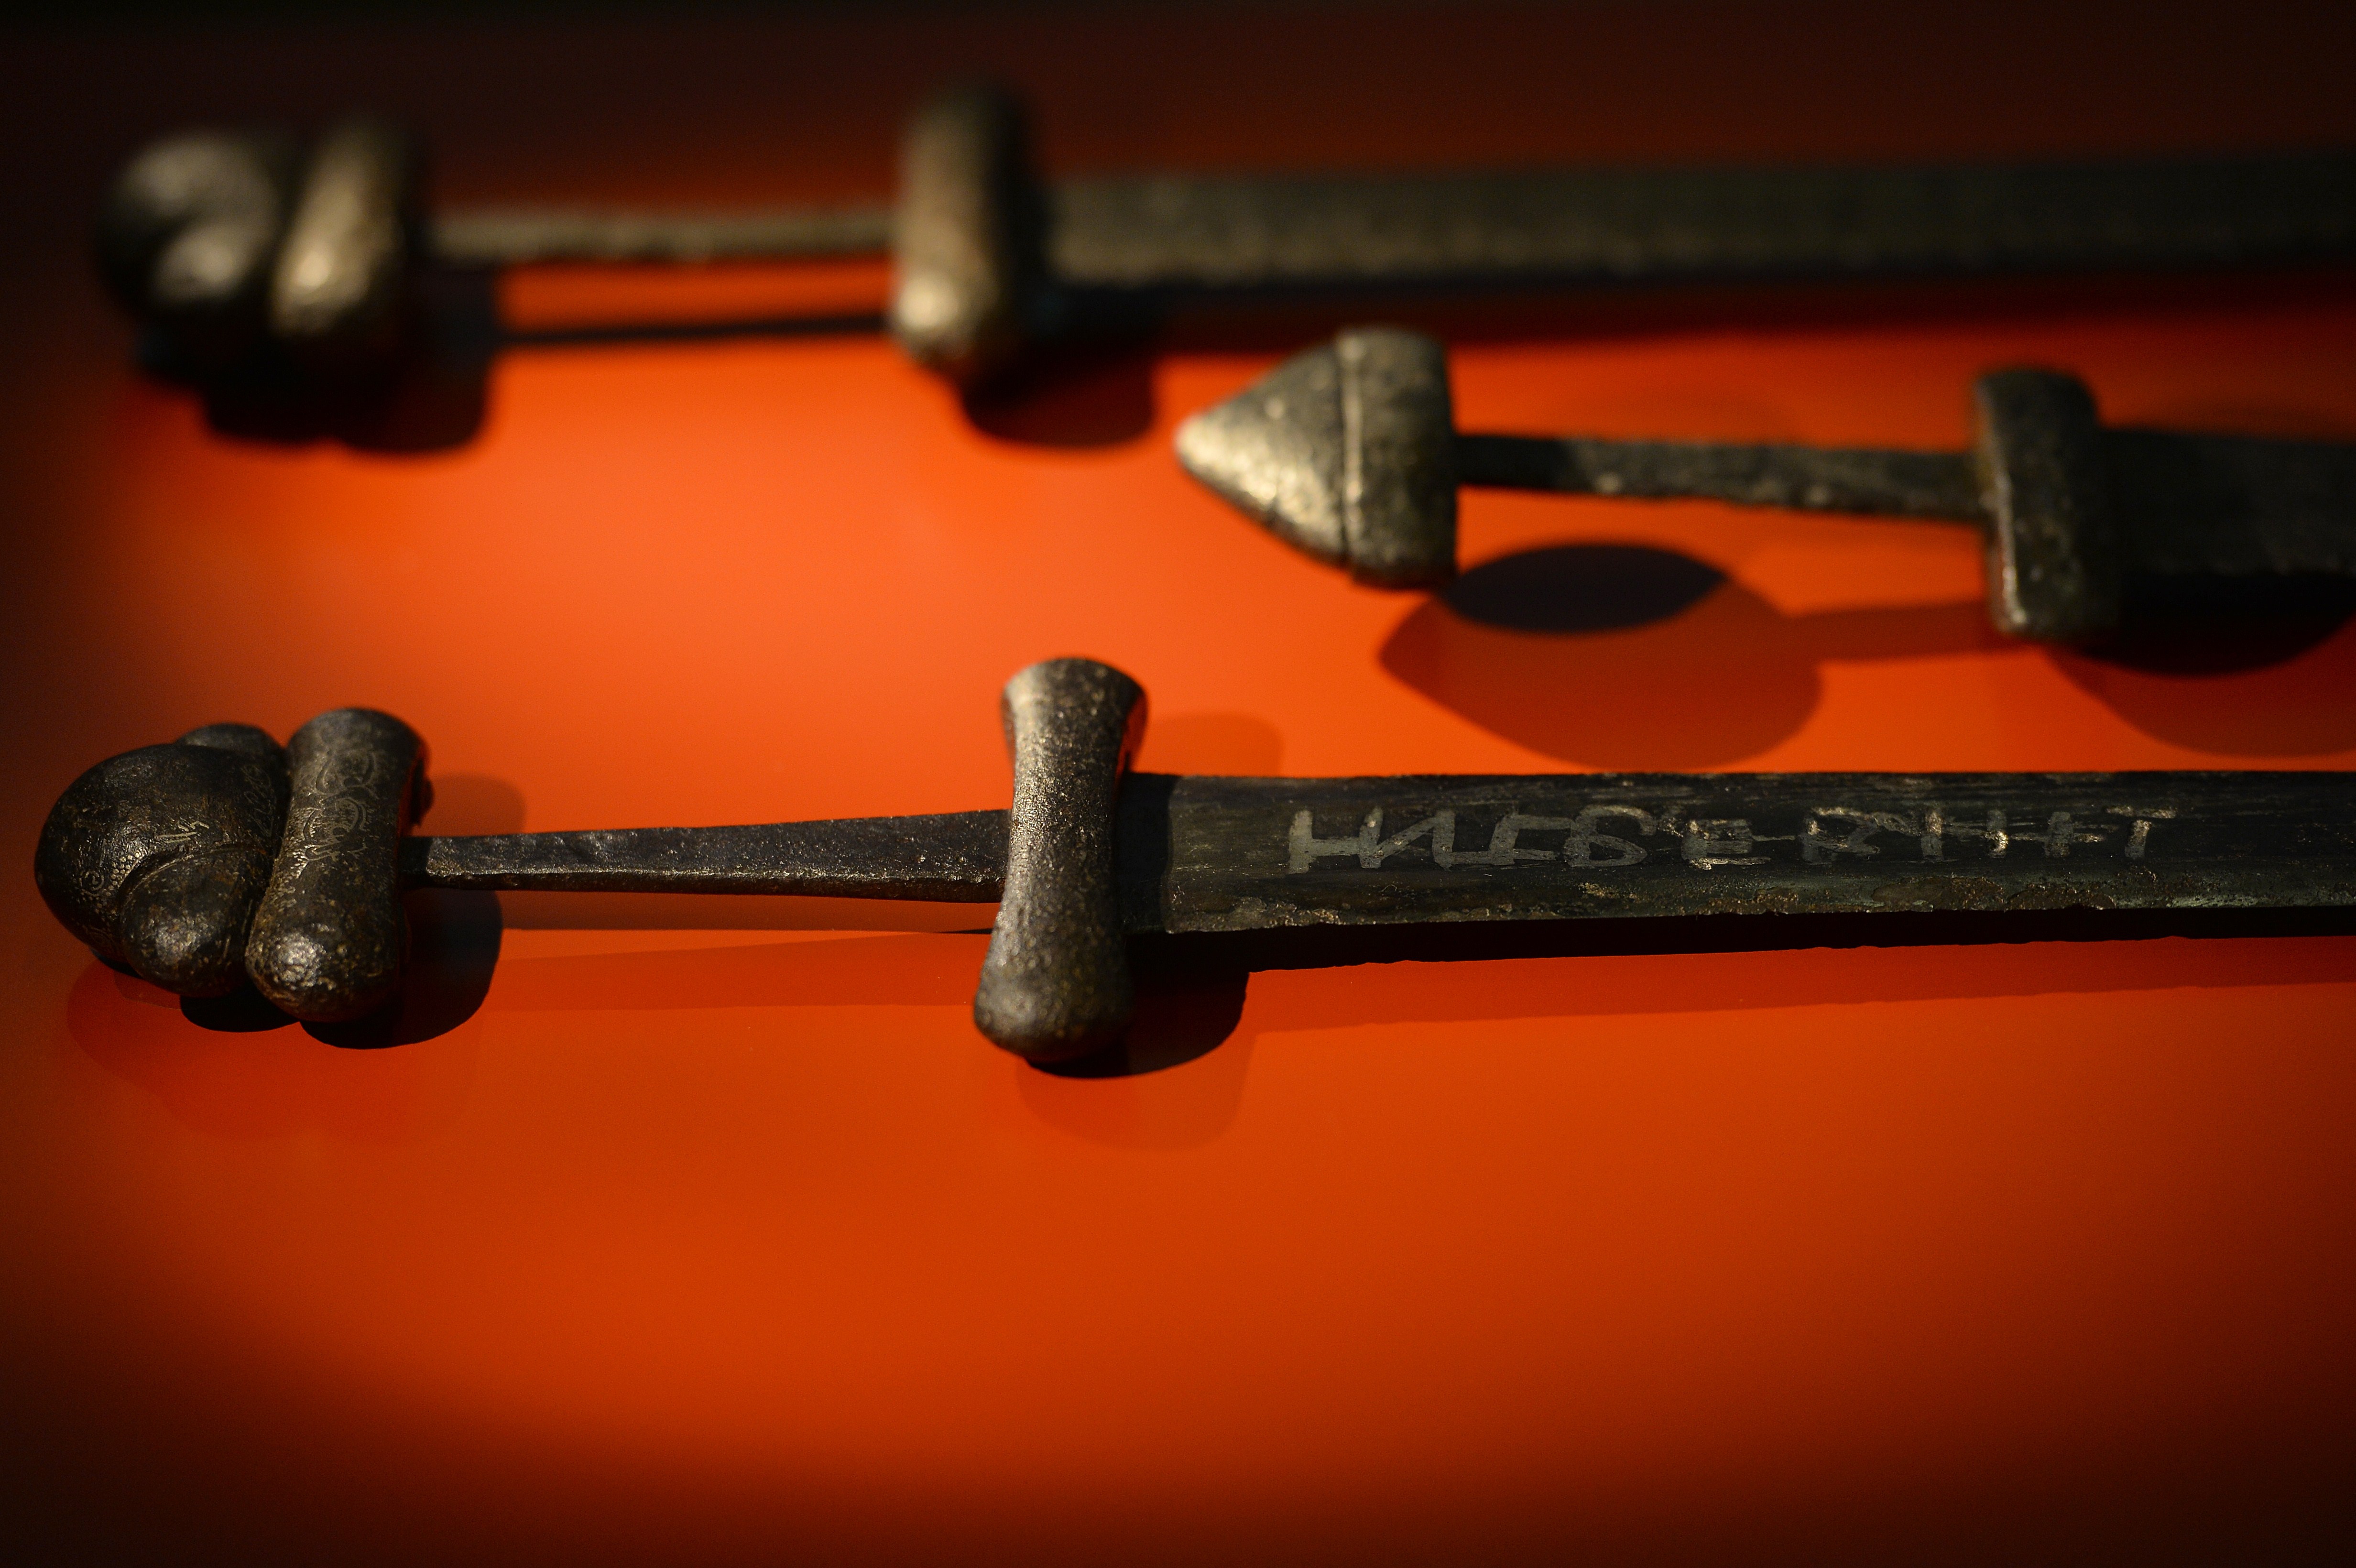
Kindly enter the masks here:
M 252 725 L 207 725 L 66 786 L 33 850 L 49 913 L 179 996 L 245 982 L 245 932 L 278 855 L 287 760 Z

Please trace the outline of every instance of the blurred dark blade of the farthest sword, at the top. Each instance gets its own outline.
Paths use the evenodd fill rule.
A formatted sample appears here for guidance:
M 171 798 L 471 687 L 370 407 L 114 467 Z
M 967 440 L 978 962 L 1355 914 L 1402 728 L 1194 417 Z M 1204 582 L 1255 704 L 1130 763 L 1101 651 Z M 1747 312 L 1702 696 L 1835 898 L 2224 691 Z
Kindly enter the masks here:
M 1065 283 L 1708 280 L 2245 266 L 2356 250 L 2356 155 L 1074 179 Z

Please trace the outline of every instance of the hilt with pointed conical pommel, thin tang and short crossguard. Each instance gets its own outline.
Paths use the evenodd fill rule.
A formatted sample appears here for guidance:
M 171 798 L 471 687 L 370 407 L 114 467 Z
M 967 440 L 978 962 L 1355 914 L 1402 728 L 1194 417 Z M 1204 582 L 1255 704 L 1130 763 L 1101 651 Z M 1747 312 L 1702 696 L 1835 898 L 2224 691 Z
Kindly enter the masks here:
M 2113 516 L 2116 433 L 2085 381 L 2059 370 L 1984 374 L 1972 410 L 1970 452 L 1465 436 L 1442 344 L 1359 327 L 1192 414 L 1178 426 L 1178 461 L 1286 544 L 1388 589 L 1456 574 L 1458 485 L 1977 523 L 2000 631 L 2102 640 L 2118 629 L 2123 570 L 2135 565 Z

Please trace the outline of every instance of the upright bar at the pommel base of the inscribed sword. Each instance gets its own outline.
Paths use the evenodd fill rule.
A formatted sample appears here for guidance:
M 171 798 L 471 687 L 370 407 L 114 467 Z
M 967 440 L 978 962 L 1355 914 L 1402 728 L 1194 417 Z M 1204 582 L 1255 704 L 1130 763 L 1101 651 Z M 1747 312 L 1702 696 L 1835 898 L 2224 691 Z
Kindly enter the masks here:
M 285 841 L 245 968 L 299 1019 L 360 1017 L 401 986 L 410 930 L 401 836 L 419 812 L 424 742 L 391 713 L 337 709 L 287 742 Z

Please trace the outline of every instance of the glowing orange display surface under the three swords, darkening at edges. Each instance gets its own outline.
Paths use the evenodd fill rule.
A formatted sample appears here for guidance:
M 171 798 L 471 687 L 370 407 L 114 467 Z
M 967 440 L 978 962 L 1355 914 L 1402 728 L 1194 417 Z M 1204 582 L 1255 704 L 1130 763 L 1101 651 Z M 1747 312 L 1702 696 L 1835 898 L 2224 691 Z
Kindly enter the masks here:
M 1934 19 L 1663 12 L 264 28 L 170 92 L 193 45 L 31 40 L 14 71 L 87 151 L 9 198 L 42 235 L 9 261 L 0 480 L 19 866 L 80 768 L 342 704 L 426 737 L 426 831 L 1001 805 L 997 690 L 1053 655 L 1138 676 L 1140 765 L 1176 772 L 2356 768 L 2356 629 L 2175 664 L 2005 643 L 1955 527 L 1468 492 L 1468 563 L 1720 582 L 1562 633 L 1350 586 L 1169 452 L 1341 318 L 1183 320 L 966 407 L 858 332 L 565 339 L 657 306 L 697 332 L 872 311 L 872 266 L 516 275 L 509 320 L 565 341 L 492 363 L 471 438 L 370 452 L 210 428 L 80 275 L 108 158 L 231 89 L 294 118 L 368 89 L 441 139 L 457 195 L 700 205 L 881 191 L 898 108 L 978 66 L 1025 82 L 1055 167 L 2356 141 L 2323 66 L 2344 24 L 2290 12 L 2139 33 L 2125 64 L 2116 16 L 2057 21 L 2000 92 L 2010 57 Z M 1341 26 L 1338 64 L 1305 64 Z M 1866 42 L 1821 64 L 1809 38 L 1842 28 Z M 1235 38 L 1312 92 L 1253 97 Z M 1718 42 L 1680 75 L 1692 38 Z M 1574 45 L 1649 64 L 1541 113 L 1571 89 L 1529 61 Z M 759 49 L 806 101 L 744 108 Z M 1890 85 L 1934 49 L 1920 92 Z M 516 104 L 466 87 L 530 59 L 549 80 Z M 1432 94 L 1359 101 L 1355 73 L 1425 61 Z M 271 87 L 290 64 L 318 75 Z M 577 148 L 535 120 L 624 64 L 634 94 Z M 2172 113 L 2153 82 L 2212 92 Z M 813 153 L 766 179 L 777 139 Z M 2059 365 L 2118 424 L 2356 438 L 2347 273 L 1385 313 L 1456 337 L 1465 428 L 1960 447 L 1977 372 Z M 1178 975 L 1176 1064 L 1053 1076 L 971 1026 L 987 906 L 412 916 L 403 1029 L 339 1048 L 205 1026 L 21 869 L 0 885 L 28 1537 L 146 1561 L 2347 1544 L 2356 937 Z

